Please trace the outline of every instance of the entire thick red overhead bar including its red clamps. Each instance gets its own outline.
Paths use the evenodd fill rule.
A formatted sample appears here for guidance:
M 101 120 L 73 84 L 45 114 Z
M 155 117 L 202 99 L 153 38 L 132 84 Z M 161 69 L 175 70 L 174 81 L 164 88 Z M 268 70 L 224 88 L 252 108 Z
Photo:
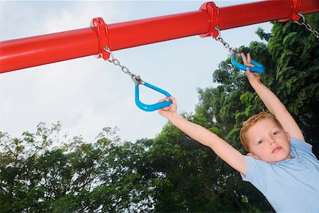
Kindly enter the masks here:
M 214 5 L 207 3 L 199 11 L 108 25 L 96 18 L 91 28 L 1 41 L 0 73 L 88 55 L 106 59 L 108 55 L 103 53 L 106 44 L 111 50 L 121 50 L 191 35 L 216 35 L 216 25 L 225 30 L 288 20 L 298 7 L 303 14 L 319 11 L 318 0 L 267 0 L 221 8 Z

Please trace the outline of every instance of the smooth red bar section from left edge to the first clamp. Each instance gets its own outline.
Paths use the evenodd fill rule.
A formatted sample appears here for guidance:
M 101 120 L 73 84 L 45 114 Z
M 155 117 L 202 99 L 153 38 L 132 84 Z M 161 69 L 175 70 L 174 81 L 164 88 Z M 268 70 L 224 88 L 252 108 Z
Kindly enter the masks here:
M 94 28 L 0 42 L 0 73 L 99 53 Z

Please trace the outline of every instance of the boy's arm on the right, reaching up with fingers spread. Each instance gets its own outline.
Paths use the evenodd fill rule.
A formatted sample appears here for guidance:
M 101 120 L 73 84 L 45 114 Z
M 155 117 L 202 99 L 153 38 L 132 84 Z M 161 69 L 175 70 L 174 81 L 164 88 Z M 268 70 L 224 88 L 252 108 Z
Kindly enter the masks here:
M 250 54 L 247 54 L 247 59 L 242 53 L 242 60 L 245 65 L 252 65 L 250 63 Z M 276 117 L 281 126 L 284 128 L 284 131 L 288 132 L 291 138 L 298 138 L 301 141 L 305 141 L 303 138 L 303 133 L 296 123 L 293 116 L 286 109 L 284 104 L 279 100 L 278 97 L 266 87 L 261 81 L 257 73 L 250 72 L 249 69 L 246 70 L 247 78 L 254 88 L 254 91 L 257 92 L 262 102 L 264 102 L 267 109 Z

